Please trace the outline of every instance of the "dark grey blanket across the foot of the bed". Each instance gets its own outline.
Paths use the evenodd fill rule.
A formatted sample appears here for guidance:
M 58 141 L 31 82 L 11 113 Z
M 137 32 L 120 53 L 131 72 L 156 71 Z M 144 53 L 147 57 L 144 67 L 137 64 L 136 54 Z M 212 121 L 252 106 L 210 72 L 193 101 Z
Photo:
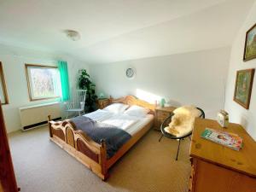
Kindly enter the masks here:
M 79 116 L 71 120 L 77 130 L 84 131 L 96 143 L 100 144 L 102 139 L 105 140 L 108 159 L 131 138 L 128 132 L 116 126 L 96 122 L 88 117 Z

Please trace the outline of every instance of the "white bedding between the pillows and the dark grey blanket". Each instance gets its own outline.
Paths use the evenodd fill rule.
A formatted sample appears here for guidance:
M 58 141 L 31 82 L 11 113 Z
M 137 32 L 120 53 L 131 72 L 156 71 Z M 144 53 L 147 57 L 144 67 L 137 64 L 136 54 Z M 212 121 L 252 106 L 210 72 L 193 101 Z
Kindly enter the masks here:
M 84 114 L 84 116 L 95 121 L 117 126 L 128 132 L 131 136 L 140 131 L 151 119 L 154 119 L 152 114 L 147 114 L 145 117 L 135 117 L 124 113 L 114 114 L 102 109 Z

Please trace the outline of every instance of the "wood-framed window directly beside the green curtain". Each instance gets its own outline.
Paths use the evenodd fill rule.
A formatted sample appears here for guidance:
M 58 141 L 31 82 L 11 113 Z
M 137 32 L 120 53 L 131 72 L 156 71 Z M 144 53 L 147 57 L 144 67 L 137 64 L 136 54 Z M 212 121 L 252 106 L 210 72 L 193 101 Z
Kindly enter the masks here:
M 58 67 L 26 64 L 26 79 L 31 101 L 61 96 Z

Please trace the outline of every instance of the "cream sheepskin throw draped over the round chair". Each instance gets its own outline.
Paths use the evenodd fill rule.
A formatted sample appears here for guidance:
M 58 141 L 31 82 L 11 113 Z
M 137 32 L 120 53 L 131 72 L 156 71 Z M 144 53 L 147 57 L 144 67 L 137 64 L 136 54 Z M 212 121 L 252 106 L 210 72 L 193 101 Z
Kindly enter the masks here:
M 183 106 L 175 109 L 173 113 L 172 121 L 165 128 L 165 131 L 176 137 L 182 137 L 192 131 L 195 118 L 201 115 L 195 106 Z

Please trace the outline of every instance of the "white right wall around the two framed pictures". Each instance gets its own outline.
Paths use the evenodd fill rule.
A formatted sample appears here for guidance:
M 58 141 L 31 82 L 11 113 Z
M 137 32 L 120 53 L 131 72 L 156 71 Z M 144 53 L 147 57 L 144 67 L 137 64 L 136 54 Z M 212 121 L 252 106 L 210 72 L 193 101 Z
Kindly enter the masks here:
M 233 101 L 236 71 L 241 69 L 255 68 L 256 59 L 251 61 L 242 61 L 243 49 L 247 30 L 256 22 L 256 3 L 254 3 L 247 20 L 241 26 L 236 39 L 232 45 L 230 54 L 230 69 L 226 89 L 225 109 L 230 113 L 230 121 L 239 123 L 245 127 L 247 132 L 256 141 L 256 79 L 254 77 L 253 92 L 251 96 L 251 104 L 249 110 L 242 108 L 239 104 Z

